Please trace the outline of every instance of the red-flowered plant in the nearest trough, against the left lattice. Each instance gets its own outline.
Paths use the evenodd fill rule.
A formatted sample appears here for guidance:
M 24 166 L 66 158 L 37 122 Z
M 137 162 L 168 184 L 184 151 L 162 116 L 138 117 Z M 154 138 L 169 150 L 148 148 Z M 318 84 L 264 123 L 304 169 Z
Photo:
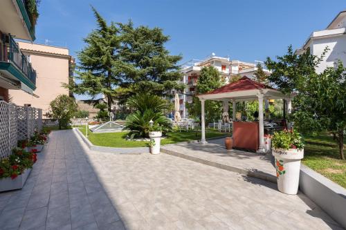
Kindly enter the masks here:
M 21 189 L 37 161 L 36 153 L 15 148 L 12 155 L 0 160 L 0 192 Z

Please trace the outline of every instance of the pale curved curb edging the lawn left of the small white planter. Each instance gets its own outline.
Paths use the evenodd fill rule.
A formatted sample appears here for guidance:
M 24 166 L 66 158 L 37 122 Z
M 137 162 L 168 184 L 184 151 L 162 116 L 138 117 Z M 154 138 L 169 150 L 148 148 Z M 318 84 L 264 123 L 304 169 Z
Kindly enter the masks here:
M 113 148 L 113 147 L 104 147 L 93 145 L 78 128 L 73 128 L 73 131 L 77 133 L 82 140 L 85 142 L 86 146 L 91 151 L 98 151 L 103 153 L 115 153 L 115 154 L 142 154 L 149 153 L 149 147 L 138 147 L 138 148 Z

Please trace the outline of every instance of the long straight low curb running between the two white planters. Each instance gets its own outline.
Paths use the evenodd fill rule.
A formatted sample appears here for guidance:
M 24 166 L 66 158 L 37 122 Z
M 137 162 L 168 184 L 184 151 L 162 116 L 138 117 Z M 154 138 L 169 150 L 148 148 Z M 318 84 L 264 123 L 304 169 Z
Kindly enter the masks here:
M 182 154 L 182 153 L 171 151 L 171 150 L 165 149 L 164 147 L 163 148 L 161 147 L 161 153 L 166 153 L 166 154 L 169 154 L 169 155 L 174 155 L 176 157 L 181 157 L 181 158 L 186 159 L 186 160 L 191 160 L 193 162 L 198 162 L 198 163 L 201 163 L 201 164 L 206 164 L 208 166 L 213 166 L 215 168 L 224 169 L 224 170 L 227 170 L 227 171 L 232 171 L 232 172 L 239 173 L 239 174 L 242 174 L 242 175 L 248 175 L 248 176 L 250 176 L 252 178 L 258 178 L 258 179 L 266 180 L 268 182 L 273 182 L 275 184 L 277 182 L 276 177 L 274 175 L 266 175 L 265 173 L 260 173 L 260 172 L 256 172 L 256 171 L 250 171 L 248 169 L 237 168 L 235 166 L 230 166 L 230 165 L 227 165 L 227 164 L 221 164 L 221 163 L 217 163 L 217 162 L 212 162 L 210 160 L 205 160 L 205 159 L 202 159 L 202 158 L 199 158 L 199 157 L 194 157 L 194 156 L 191 156 L 191 155 L 185 155 L 185 154 Z

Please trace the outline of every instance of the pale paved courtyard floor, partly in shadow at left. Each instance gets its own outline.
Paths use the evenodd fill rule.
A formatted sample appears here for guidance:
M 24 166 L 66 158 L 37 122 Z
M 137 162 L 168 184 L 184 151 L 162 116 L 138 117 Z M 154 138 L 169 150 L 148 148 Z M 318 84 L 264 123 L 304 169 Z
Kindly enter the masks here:
M 86 150 L 55 131 L 0 229 L 341 229 L 303 194 L 172 155 Z

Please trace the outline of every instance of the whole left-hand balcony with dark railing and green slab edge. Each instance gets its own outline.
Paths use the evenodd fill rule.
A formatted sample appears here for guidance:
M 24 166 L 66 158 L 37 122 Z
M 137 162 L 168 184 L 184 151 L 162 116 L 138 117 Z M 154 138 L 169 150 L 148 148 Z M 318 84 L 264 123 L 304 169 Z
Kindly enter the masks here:
M 14 80 L 14 82 L 19 81 L 28 86 L 30 90 L 35 90 L 36 71 L 31 66 L 26 55 L 21 52 L 11 35 L 3 35 L 1 40 L 3 42 L 0 48 L 1 73 Z M 17 88 L 20 85 L 20 88 L 23 89 L 23 84 L 17 84 Z

